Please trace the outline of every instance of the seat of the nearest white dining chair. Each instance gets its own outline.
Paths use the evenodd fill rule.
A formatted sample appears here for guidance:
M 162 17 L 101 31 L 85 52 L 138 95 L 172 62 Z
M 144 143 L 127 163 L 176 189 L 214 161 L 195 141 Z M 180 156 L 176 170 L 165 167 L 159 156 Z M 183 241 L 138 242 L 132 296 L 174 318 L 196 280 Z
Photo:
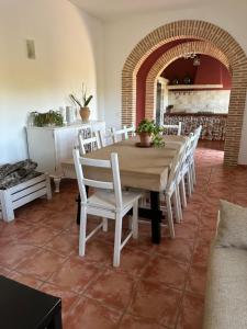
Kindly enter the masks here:
M 133 202 L 137 201 L 142 196 L 142 193 L 123 191 L 122 192 L 122 202 L 123 209 L 133 205 Z M 115 213 L 115 195 L 113 192 L 108 190 L 96 190 L 93 195 L 88 198 L 88 206 L 108 209 Z

